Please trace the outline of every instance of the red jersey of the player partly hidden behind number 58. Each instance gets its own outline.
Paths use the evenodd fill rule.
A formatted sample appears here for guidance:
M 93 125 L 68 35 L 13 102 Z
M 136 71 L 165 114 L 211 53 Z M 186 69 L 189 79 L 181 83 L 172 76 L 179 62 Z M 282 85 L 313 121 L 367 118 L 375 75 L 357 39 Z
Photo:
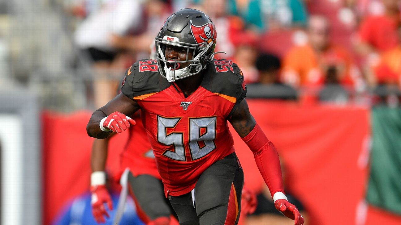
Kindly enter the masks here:
M 120 155 L 121 169 L 123 171 L 129 167 L 134 176 L 147 174 L 161 179 L 144 125 L 140 117 L 133 119 L 135 119 L 136 125 L 130 127 L 130 136 Z

